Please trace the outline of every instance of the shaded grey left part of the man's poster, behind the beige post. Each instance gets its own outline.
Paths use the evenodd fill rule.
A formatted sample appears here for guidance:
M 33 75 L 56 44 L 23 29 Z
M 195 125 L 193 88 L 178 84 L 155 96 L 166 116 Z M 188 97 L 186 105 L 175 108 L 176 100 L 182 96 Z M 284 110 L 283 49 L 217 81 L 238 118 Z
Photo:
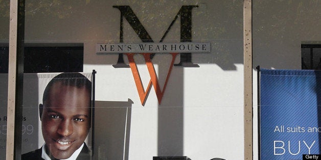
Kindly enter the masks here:
M 0 159 L 6 156 L 8 74 L 0 74 Z M 21 152 L 38 149 L 38 77 L 24 74 L 24 108 L 22 112 Z

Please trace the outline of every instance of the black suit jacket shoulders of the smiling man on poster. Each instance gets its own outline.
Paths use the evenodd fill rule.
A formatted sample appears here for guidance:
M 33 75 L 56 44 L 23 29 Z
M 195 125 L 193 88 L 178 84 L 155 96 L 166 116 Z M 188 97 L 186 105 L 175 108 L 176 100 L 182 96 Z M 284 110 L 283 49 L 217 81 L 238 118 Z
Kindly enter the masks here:
M 41 158 L 41 154 L 42 154 L 42 147 L 37 150 L 22 154 L 21 159 L 22 160 L 43 160 L 43 158 Z M 89 149 L 86 143 L 84 143 L 84 146 L 82 147 L 82 150 L 80 151 L 76 160 L 89 160 L 89 159 L 90 159 Z

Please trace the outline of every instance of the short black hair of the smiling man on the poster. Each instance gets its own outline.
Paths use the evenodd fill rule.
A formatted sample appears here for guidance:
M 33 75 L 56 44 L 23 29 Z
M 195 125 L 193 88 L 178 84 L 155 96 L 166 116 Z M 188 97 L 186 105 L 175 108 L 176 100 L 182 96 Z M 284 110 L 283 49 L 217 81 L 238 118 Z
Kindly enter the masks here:
M 74 73 L 60 73 L 53 77 L 47 87 L 45 87 L 42 97 L 42 102 L 45 103 L 45 101 L 49 98 L 49 93 L 52 89 L 52 86 L 55 83 L 61 83 L 63 86 L 71 86 L 71 87 L 77 87 L 77 88 L 83 88 L 85 87 L 88 91 L 91 99 L 91 82 L 89 79 L 84 76 L 81 73 L 74 72 Z M 91 106 L 91 103 L 89 104 Z

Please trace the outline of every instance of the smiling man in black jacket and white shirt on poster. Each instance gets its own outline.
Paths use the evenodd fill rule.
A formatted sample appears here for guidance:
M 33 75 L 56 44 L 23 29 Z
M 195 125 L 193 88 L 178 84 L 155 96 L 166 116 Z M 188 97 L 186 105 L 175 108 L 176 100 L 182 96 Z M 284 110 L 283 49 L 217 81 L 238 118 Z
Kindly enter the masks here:
M 39 104 L 45 144 L 22 159 L 90 159 L 84 143 L 91 124 L 91 82 L 80 73 L 61 73 Z

